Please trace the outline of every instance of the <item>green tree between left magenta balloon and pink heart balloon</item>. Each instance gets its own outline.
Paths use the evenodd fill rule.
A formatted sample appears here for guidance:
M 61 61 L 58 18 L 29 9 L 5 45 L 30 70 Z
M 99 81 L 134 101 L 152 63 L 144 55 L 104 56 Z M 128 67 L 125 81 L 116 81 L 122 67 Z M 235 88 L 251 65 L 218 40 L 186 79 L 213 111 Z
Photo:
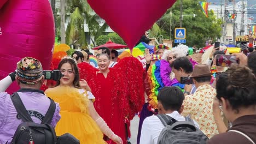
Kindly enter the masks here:
M 55 1 L 55 0 L 54 0 Z M 98 19 L 100 17 L 94 12 L 94 10 L 91 9 L 90 5 L 86 0 L 56 0 L 61 2 L 62 8 L 65 6 L 66 17 L 70 15 L 70 21 L 68 22 L 67 30 L 66 31 L 66 44 L 74 44 L 75 46 L 79 47 L 85 47 L 87 46 L 86 40 L 85 40 L 85 34 L 84 34 L 84 23 L 88 24 L 89 29 L 89 35 L 94 35 L 95 39 L 98 38 L 101 34 L 106 31 L 108 28 L 108 25 L 106 22 L 103 23 L 103 25 L 100 25 L 98 23 Z M 60 9 L 55 9 L 56 13 L 57 11 L 60 11 L 62 17 L 63 17 L 63 11 Z M 82 18 L 85 20 L 82 21 Z M 63 23 L 65 20 L 60 20 L 60 16 L 56 16 L 56 37 L 65 37 L 65 35 L 61 32 L 65 32 Z M 62 22 L 62 25 L 60 23 Z M 62 30 L 61 30 L 62 29 Z M 63 30 L 64 29 L 64 30 Z M 76 31 L 70 31 L 72 29 L 76 29 Z M 83 29 L 83 33 L 82 33 Z M 60 36 L 62 35 L 62 36 Z

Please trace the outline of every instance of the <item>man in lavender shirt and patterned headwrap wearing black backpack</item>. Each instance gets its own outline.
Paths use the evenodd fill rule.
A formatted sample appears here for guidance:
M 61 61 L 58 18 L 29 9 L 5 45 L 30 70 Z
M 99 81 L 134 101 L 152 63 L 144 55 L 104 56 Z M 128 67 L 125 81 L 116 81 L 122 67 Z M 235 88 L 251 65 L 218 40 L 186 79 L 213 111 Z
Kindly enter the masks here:
M 22 140 L 26 138 L 28 141 L 13 141 L 13 143 L 36 143 L 34 140 L 38 139 L 38 137 L 29 125 L 33 123 L 36 129 L 38 127 L 37 124 L 45 122 L 45 129 L 49 128 L 54 131 L 53 128 L 61 118 L 59 113 L 60 106 L 46 97 L 43 91 L 40 91 L 44 76 L 42 64 L 37 59 L 31 57 L 22 58 L 17 63 L 16 75 L 13 73 L 9 76 L 11 80 L 18 82 L 20 90 L 13 95 L 0 92 L 0 143 L 6 143 L 7 141 L 7 143 L 10 143 L 13 139 L 21 140 L 21 138 Z M 46 116 L 46 113 L 49 113 L 48 116 Z M 25 121 L 30 122 L 21 126 L 20 124 Z M 26 134 L 22 130 L 29 134 L 28 137 L 21 137 Z M 49 133 L 45 132 L 45 134 Z

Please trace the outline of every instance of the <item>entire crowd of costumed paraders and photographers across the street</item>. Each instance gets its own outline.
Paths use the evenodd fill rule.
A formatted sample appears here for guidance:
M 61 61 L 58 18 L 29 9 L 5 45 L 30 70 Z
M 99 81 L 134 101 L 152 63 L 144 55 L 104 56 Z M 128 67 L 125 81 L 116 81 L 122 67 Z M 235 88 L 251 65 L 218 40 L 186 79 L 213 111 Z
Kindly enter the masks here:
M 53 99 L 50 124 L 56 135 L 69 133 L 80 143 L 129 143 L 130 121 L 137 113 L 137 143 L 160 142 L 165 125 L 158 114 L 175 121 L 190 118 L 208 137 L 206 143 L 255 143 L 256 51 L 248 56 L 232 53 L 239 63 L 220 67 L 216 56 L 227 54 L 218 48 L 201 63 L 188 58 L 185 45 L 155 46 L 151 53 L 145 50 L 145 69 L 135 57 L 117 62 L 118 52 L 108 47 L 98 49 L 97 67 L 89 61 L 92 53 L 75 51 L 61 59 L 57 69 L 62 77 L 46 91 L 40 90 L 45 81 L 42 64 L 22 58 L 0 81 L 0 143 L 10 143 L 22 123 L 13 95 L 4 92 L 14 81 L 30 114 L 45 116 Z M 43 121 L 30 116 L 35 123 Z

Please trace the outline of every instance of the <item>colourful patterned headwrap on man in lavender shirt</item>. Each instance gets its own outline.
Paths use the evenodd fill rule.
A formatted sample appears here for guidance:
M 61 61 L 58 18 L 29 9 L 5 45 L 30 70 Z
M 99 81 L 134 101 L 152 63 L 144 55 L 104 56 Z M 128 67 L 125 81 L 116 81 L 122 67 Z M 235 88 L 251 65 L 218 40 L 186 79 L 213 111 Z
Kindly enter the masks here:
M 42 79 L 42 64 L 32 57 L 25 57 L 17 63 L 17 79 L 26 85 L 34 85 Z

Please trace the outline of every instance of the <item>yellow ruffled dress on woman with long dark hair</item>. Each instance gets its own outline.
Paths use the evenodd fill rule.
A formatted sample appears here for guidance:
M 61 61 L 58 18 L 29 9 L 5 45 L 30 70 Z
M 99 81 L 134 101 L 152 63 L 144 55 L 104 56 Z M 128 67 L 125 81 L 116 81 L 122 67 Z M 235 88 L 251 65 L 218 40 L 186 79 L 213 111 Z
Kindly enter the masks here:
M 68 86 L 49 88 L 45 94 L 61 107 L 61 119 L 55 128 L 57 136 L 70 133 L 79 139 L 81 144 L 106 143 L 100 128 L 89 115 L 89 99 L 95 99 L 94 97 L 84 89 Z

